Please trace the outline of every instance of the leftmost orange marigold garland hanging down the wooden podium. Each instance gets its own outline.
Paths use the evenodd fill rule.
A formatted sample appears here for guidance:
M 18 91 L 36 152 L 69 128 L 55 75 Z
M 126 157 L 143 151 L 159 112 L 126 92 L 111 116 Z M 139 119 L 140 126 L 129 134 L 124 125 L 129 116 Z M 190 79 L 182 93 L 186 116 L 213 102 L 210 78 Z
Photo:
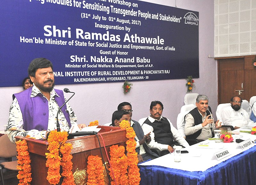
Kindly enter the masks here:
M 26 136 L 28 138 L 30 136 Z M 19 185 L 27 185 L 30 184 L 32 181 L 31 177 L 31 166 L 30 166 L 30 157 L 28 153 L 28 145 L 25 139 L 16 141 L 16 148 L 17 148 L 17 159 L 18 159 L 18 166 L 17 169 L 19 170 L 17 178 L 20 180 Z

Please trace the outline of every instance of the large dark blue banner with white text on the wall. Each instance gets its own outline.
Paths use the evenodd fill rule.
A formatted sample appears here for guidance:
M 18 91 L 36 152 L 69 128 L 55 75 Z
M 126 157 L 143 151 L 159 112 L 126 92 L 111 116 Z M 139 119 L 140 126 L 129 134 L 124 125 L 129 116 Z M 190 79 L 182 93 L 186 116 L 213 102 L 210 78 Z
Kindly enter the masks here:
M 136 0 L 2 0 L 1 87 L 38 57 L 55 84 L 199 77 L 199 13 Z

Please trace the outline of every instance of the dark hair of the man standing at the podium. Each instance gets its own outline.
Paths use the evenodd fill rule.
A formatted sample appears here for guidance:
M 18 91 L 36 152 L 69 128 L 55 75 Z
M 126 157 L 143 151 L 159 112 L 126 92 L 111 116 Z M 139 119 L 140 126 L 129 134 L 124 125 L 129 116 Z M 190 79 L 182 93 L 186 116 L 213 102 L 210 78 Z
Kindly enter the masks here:
M 31 61 L 31 63 L 28 66 L 28 76 L 35 77 L 36 70 L 48 67 L 51 67 L 53 70 L 52 63 L 50 60 L 46 58 L 35 58 Z

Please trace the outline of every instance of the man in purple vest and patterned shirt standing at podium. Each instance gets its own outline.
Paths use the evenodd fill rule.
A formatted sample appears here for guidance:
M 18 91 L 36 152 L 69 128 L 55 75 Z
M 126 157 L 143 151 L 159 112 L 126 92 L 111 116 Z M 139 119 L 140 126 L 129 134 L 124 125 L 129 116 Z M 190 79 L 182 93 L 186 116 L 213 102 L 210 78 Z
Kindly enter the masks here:
M 53 67 L 49 60 L 34 59 L 29 64 L 28 75 L 34 84 L 33 87 L 13 94 L 6 128 L 12 142 L 15 142 L 15 136 L 26 135 L 46 139 L 50 131 L 57 128 L 57 111 L 65 103 L 63 91 L 53 89 Z M 68 103 L 61 108 L 58 120 L 60 129 L 66 131 L 76 124 L 76 115 Z M 85 126 L 78 125 L 80 129 Z

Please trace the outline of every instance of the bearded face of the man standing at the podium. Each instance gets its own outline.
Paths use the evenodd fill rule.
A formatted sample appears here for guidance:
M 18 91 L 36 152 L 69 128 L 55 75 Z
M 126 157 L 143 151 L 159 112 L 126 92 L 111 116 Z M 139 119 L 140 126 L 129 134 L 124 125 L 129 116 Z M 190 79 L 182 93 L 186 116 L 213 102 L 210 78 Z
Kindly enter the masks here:
M 52 68 L 39 68 L 36 70 L 35 77 L 30 79 L 41 92 L 51 92 L 54 87 L 54 76 Z

